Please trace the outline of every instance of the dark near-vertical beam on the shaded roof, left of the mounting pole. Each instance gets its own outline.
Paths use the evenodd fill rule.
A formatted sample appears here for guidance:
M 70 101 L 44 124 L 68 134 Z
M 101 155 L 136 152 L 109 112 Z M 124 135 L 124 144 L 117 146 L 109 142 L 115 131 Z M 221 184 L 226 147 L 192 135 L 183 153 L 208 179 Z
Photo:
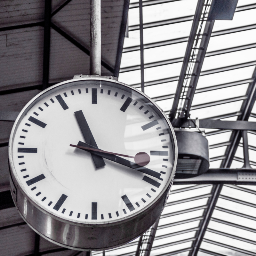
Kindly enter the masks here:
M 44 0 L 44 55 L 43 55 L 43 87 L 49 85 L 50 38 L 51 38 L 52 0 Z

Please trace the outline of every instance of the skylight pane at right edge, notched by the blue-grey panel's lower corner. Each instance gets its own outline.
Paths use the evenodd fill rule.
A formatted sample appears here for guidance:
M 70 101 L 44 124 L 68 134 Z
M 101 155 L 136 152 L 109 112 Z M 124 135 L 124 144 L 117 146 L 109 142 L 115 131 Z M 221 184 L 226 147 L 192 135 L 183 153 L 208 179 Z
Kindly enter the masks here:
M 233 20 L 215 20 L 213 31 L 255 24 L 256 9 L 235 12 Z

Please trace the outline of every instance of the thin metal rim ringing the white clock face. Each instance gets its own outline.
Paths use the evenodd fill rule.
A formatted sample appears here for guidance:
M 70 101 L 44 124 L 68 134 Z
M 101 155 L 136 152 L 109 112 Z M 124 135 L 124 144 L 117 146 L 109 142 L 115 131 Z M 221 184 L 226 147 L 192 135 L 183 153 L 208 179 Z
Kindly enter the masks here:
M 30 194 L 27 194 L 26 193 L 26 190 L 25 190 L 25 187 L 23 186 L 23 184 L 21 182 L 19 182 L 19 177 L 18 175 L 16 175 L 16 171 L 15 171 L 15 168 L 14 168 L 14 164 L 13 164 L 13 157 L 12 157 L 12 148 L 13 148 L 13 139 L 14 139 L 14 134 L 16 133 L 16 130 L 17 130 L 17 125 L 20 124 L 20 122 L 23 120 L 24 116 L 22 117 L 23 113 L 27 110 L 27 108 L 29 106 L 31 106 L 29 109 L 31 109 L 35 104 L 32 105 L 33 102 L 36 101 L 36 99 L 38 99 L 41 95 L 47 93 L 48 91 L 56 88 L 56 87 L 59 87 L 63 84 L 69 84 L 69 83 L 72 83 L 72 82 L 76 82 L 76 81 L 84 81 L 84 80 L 99 80 L 99 81 L 106 81 L 106 82 L 112 82 L 114 84 L 119 84 L 119 85 L 123 85 L 135 92 L 138 92 L 140 95 L 142 95 L 143 97 L 145 97 L 148 101 L 150 101 L 158 110 L 159 112 L 163 115 L 164 119 L 166 120 L 169 128 L 170 128 L 170 131 L 171 131 L 171 134 L 172 134 L 172 140 L 173 140 L 173 145 L 172 145 L 172 148 L 173 148 L 173 156 L 174 156 L 174 159 L 173 159 L 173 166 L 172 166 L 172 172 L 171 172 L 171 175 L 168 179 L 168 181 L 166 182 L 164 188 L 160 191 L 160 193 L 156 196 L 156 198 L 154 200 L 152 200 L 152 202 L 150 202 L 148 205 L 146 205 L 145 207 L 143 207 L 141 210 L 139 210 L 138 212 L 134 212 L 128 216 L 124 216 L 120 219 L 116 219 L 116 220 L 104 220 L 104 221 L 86 221 L 86 223 L 82 223 L 81 221 L 79 220 L 70 220 L 66 217 L 63 216 L 62 217 L 59 217 L 59 216 L 56 216 L 54 215 L 53 213 L 51 212 L 48 212 L 47 210 L 45 210 L 42 205 L 40 204 L 37 204 L 36 201 L 33 200 L 33 197 L 30 195 Z M 69 86 L 67 86 L 68 88 Z M 29 110 L 28 109 L 28 110 Z M 22 118 L 21 118 L 22 117 Z M 72 223 L 73 225 L 76 225 L 76 226 L 97 226 L 97 225 L 100 225 L 100 226 L 110 226 L 111 224 L 113 225 L 116 225 L 116 223 L 125 223 L 127 222 L 128 220 L 132 219 L 133 217 L 136 217 L 140 214 L 142 214 L 143 212 L 147 211 L 148 208 L 150 207 L 153 207 L 157 201 L 164 195 L 164 193 L 166 192 L 166 190 L 170 190 L 171 186 L 172 186 L 172 183 L 173 183 L 173 179 L 174 179 L 174 175 L 175 175 L 175 169 L 176 169 L 176 164 L 177 164 L 177 158 L 178 158 L 178 146 L 177 146 L 177 140 L 176 140 L 176 137 L 175 137 L 175 133 L 174 133 L 174 130 L 173 130 L 173 127 L 172 127 L 172 124 L 170 123 L 168 117 L 165 115 L 164 111 L 162 108 L 160 108 L 156 102 L 154 100 L 152 100 L 150 97 L 148 97 L 145 93 L 139 91 L 137 88 L 134 88 L 128 84 L 124 84 L 122 82 L 119 82 L 119 81 L 116 81 L 116 80 L 113 80 L 113 79 L 108 79 L 108 78 L 105 78 L 105 77 L 100 77 L 100 76 L 92 76 L 92 77 L 83 77 L 83 78 L 77 78 L 77 79 L 70 79 L 70 80 L 67 80 L 67 81 L 63 81 L 63 82 L 60 82 L 58 84 L 54 84 L 50 87 L 48 87 L 47 89 L 43 90 L 42 92 L 39 92 L 35 97 L 33 97 L 25 106 L 24 108 L 22 108 L 22 110 L 20 111 L 20 114 L 17 116 L 17 119 L 15 120 L 14 124 L 13 124 L 13 127 L 12 127 L 12 131 L 11 131 L 11 135 L 10 135 L 10 139 L 9 139 L 9 146 L 8 146 L 8 154 L 9 154 L 9 164 L 10 164 L 10 175 L 12 177 L 12 179 L 14 178 L 15 181 L 17 182 L 17 185 L 20 187 L 20 190 L 22 191 L 22 194 L 29 200 L 30 203 L 32 203 L 36 208 L 38 208 L 40 211 L 44 212 L 45 214 L 51 216 L 52 218 L 56 219 L 56 220 L 61 220 L 62 222 L 65 222 L 65 223 Z M 174 170 L 174 171 L 173 171 Z M 14 182 L 14 181 L 13 181 Z M 14 182 L 15 183 L 15 182 Z M 167 195 L 168 197 L 168 195 Z M 166 203 L 167 199 L 165 200 L 165 203 Z M 165 206 L 165 204 L 163 205 L 163 207 Z

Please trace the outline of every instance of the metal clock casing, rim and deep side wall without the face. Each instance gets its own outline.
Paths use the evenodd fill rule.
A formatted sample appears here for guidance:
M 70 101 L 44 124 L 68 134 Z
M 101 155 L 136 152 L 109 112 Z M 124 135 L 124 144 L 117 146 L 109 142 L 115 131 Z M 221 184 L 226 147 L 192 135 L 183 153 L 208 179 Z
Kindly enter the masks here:
M 105 77 L 90 77 L 65 81 L 46 89 L 45 91 L 39 93 L 36 97 L 40 97 L 43 93 L 51 90 L 54 87 L 79 80 L 108 81 L 131 88 L 131 90 L 137 91 L 143 97 L 147 98 L 148 101 L 158 108 L 160 113 L 163 113 L 163 110 L 144 93 L 132 88 L 129 85 L 115 80 L 106 79 Z M 22 112 L 24 112 L 31 102 L 33 102 L 33 99 L 24 107 L 17 120 L 19 120 L 19 118 L 22 116 Z M 18 177 L 16 177 L 14 164 L 12 161 L 12 136 L 14 134 L 15 125 L 18 123 L 16 120 L 9 142 L 10 186 L 14 204 L 18 208 L 21 217 L 27 222 L 29 227 L 50 242 L 79 251 L 100 251 L 115 248 L 126 244 L 143 234 L 156 222 L 164 209 L 169 196 L 169 191 L 174 177 L 174 170 L 177 163 L 177 142 L 175 139 L 175 134 L 168 118 L 164 115 L 164 113 L 163 117 L 170 126 L 173 144 L 172 174 L 164 189 L 151 204 L 145 207 L 143 211 L 122 218 L 121 220 L 105 221 L 103 223 L 95 222 L 95 224 L 78 223 L 57 217 L 51 212 L 47 212 L 45 209 L 41 208 L 28 195 L 26 195 L 22 187 L 19 185 Z

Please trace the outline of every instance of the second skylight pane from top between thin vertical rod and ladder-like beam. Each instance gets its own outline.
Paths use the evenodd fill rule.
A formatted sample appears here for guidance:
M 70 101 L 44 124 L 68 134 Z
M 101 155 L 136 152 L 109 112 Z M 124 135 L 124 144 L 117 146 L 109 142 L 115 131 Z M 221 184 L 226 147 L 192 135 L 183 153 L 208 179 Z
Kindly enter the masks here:
M 143 29 L 144 44 L 189 36 L 192 21 Z

